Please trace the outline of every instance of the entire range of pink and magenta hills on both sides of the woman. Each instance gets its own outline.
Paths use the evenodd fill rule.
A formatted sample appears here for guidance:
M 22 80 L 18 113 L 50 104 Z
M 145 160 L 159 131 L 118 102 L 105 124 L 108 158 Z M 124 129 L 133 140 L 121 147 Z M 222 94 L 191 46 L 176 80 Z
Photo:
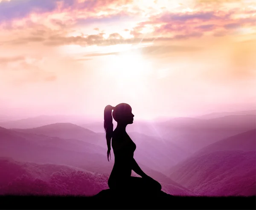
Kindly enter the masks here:
M 209 117 L 214 118 L 203 119 Z M 40 119 L 45 120 L 39 123 Z M 105 133 L 91 130 L 102 125 L 92 122 L 84 128 L 89 124 L 57 119 L 43 125 L 49 119 L 0 122 L 8 125 L 0 127 L 0 193 L 15 193 L 17 186 L 23 186 L 21 194 L 85 195 L 108 188 L 114 158 L 107 161 Z M 255 121 L 252 112 L 219 113 L 202 119 L 134 122 L 127 132 L 137 145 L 134 158 L 145 173 L 162 184 L 164 192 L 251 196 L 256 186 Z M 87 177 L 94 181 L 83 181 Z M 93 184 L 95 180 L 100 184 Z

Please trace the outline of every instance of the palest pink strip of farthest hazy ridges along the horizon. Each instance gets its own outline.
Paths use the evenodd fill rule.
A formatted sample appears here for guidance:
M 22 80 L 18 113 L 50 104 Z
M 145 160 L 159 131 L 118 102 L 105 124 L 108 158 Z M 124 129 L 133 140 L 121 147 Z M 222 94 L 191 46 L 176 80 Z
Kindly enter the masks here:
M 146 130 L 148 133 L 154 134 L 154 129 L 158 128 L 159 125 L 162 126 L 163 124 L 166 124 L 166 122 L 177 122 L 177 120 L 181 119 L 183 121 L 189 120 L 189 119 L 213 119 L 213 118 L 220 118 L 224 116 L 242 116 L 242 115 L 256 115 L 256 111 L 254 110 L 249 110 L 249 111 L 236 111 L 236 112 L 220 112 L 220 113 L 211 113 L 211 114 L 206 114 L 203 116 L 196 116 L 196 117 L 175 117 L 175 118 L 169 118 L 165 119 L 164 121 L 157 121 L 157 120 L 151 120 L 151 121 L 146 121 L 146 120 L 137 120 L 134 121 L 134 126 L 133 128 L 130 126 L 128 127 L 129 131 L 133 132 L 140 132 L 140 130 Z M 103 120 L 103 119 L 102 119 Z M 56 115 L 56 116 L 48 116 L 48 115 L 41 115 L 41 116 L 35 116 L 35 117 L 29 117 L 27 119 L 19 119 L 19 120 L 12 120 L 12 121 L 3 121 L 1 122 L 0 120 L 0 126 L 4 128 L 21 128 L 21 129 L 26 129 L 26 128 L 36 128 L 36 127 L 41 127 L 44 125 L 49 125 L 49 124 L 54 124 L 58 122 L 67 122 L 67 123 L 73 123 L 76 125 L 79 125 L 84 128 L 88 128 L 91 131 L 94 132 L 104 132 L 103 129 L 103 121 L 98 121 L 98 120 L 93 120 L 92 118 L 88 118 L 85 116 L 68 116 L 68 115 Z M 115 124 L 115 121 L 114 121 Z M 143 132 L 145 133 L 145 132 Z M 154 135 L 157 135 L 155 133 Z M 150 136 L 152 136 L 150 134 Z

